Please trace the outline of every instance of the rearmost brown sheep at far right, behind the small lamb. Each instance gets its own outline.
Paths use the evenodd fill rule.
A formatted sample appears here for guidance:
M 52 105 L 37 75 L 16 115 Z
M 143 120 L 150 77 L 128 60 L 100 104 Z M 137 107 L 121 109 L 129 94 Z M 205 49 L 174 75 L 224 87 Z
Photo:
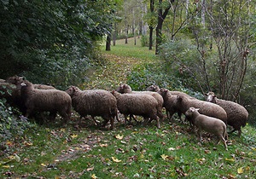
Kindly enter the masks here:
M 238 130 L 238 136 L 240 137 L 241 126 L 244 127 L 247 124 L 248 112 L 246 108 L 233 101 L 218 99 L 213 92 L 209 92 L 207 94 L 207 101 L 215 103 L 224 108 L 228 116 L 227 124 L 233 127 L 233 130 L 230 133 Z

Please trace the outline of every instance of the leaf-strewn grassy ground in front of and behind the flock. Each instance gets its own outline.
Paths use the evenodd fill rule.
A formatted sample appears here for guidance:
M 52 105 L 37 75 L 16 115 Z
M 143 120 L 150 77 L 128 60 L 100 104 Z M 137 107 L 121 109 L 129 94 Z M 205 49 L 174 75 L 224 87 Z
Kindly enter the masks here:
M 153 51 L 121 41 L 104 54 L 105 67 L 93 72 L 84 87 L 113 90 L 132 66 L 155 58 Z M 5 141 L 0 178 L 255 178 L 256 132 L 250 125 L 241 138 L 230 135 L 225 151 L 208 134 L 198 143 L 189 124 L 177 119 L 166 119 L 160 130 L 154 123 L 125 127 L 117 122 L 114 130 L 100 129 L 90 119 L 77 129 L 77 119 L 73 115 L 65 128 L 58 121 L 36 124 Z

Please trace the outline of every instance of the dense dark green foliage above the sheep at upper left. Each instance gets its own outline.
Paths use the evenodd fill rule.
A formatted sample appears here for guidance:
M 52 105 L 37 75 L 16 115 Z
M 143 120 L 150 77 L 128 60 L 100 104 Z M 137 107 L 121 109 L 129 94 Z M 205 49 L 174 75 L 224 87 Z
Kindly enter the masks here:
M 96 59 L 96 41 L 111 32 L 115 3 L 0 1 L 0 77 L 79 83 Z

